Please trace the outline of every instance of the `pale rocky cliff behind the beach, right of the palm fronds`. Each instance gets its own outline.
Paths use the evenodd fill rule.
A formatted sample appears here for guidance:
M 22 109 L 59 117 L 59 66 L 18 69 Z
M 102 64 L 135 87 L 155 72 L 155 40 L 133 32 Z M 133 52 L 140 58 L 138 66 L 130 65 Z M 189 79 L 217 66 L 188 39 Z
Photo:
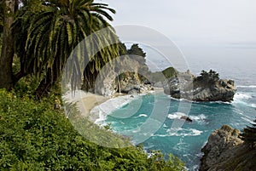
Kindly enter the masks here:
M 143 65 L 139 61 L 122 57 L 115 60 L 112 66 L 114 67 L 107 68 L 108 70 L 102 69 L 102 74 L 96 80 L 94 93 L 112 96 L 116 93 L 139 94 L 153 89 L 151 84 L 144 83 L 141 71 Z

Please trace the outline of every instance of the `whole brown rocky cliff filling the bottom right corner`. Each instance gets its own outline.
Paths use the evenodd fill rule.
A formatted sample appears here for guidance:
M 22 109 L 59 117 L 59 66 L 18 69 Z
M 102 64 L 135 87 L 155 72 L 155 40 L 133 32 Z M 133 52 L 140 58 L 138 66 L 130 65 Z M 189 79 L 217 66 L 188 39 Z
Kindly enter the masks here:
M 224 125 L 215 130 L 202 148 L 201 171 L 256 170 L 256 150 L 243 143 L 239 130 Z

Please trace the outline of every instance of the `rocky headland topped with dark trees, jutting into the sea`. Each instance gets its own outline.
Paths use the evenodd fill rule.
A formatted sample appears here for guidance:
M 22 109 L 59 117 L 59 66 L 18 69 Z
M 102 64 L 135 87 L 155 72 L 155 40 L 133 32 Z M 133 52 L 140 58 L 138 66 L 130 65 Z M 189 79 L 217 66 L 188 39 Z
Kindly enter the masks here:
M 203 74 L 202 74 L 203 73 Z M 173 98 L 195 101 L 231 101 L 236 94 L 234 81 L 218 78 L 215 71 L 195 77 L 190 71 L 166 79 L 164 90 Z

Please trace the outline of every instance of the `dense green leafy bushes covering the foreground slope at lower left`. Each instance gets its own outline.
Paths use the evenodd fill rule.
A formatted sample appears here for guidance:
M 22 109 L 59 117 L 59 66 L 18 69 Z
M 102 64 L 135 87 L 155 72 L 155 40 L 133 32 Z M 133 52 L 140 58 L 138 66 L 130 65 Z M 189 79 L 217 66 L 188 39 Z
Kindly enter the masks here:
M 0 89 L 0 170 L 183 170 L 177 157 L 148 157 L 140 145 L 107 148 L 85 140 L 51 99 Z

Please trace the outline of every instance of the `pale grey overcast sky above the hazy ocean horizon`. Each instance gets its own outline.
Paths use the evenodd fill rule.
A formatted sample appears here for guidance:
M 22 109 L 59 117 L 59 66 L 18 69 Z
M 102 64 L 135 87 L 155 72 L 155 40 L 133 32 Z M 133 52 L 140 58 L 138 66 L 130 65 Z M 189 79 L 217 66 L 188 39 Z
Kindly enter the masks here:
M 256 43 L 255 0 L 98 0 L 113 26 L 140 25 L 183 43 Z

